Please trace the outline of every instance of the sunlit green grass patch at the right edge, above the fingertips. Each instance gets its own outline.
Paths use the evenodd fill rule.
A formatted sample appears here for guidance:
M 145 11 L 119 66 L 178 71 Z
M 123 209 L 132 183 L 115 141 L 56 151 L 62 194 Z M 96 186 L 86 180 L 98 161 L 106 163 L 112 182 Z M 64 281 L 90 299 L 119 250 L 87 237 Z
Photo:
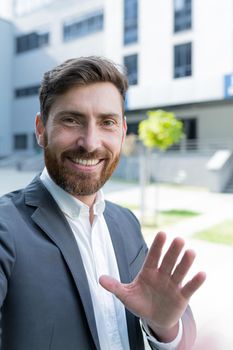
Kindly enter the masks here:
M 225 220 L 207 230 L 197 232 L 193 235 L 193 238 L 212 243 L 233 245 L 233 220 Z

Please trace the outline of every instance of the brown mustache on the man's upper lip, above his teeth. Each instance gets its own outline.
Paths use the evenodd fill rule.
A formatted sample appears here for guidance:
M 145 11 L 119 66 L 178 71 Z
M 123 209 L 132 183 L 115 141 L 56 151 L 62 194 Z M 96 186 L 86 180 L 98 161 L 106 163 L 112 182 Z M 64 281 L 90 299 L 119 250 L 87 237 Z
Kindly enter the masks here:
M 88 152 L 84 147 L 80 146 L 77 149 L 64 151 L 61 158 L 79 158 L 79 159 L 105 159 L 110 158 L 111 153 L 108 150 L 96 149 Z

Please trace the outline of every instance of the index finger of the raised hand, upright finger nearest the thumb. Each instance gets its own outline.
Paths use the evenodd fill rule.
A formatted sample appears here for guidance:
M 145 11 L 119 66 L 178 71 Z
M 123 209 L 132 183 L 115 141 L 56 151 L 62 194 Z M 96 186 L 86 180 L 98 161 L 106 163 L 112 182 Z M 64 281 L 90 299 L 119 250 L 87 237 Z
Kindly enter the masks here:
M 150 247 L 150 250 L 145 259 L 143 268 L 156 268 L 159 264 L 159 259 L 161 257 L 162 249 L 166 241 L 166 234 L 164 232 L 159 232 L 155 236 L 155 239 Z

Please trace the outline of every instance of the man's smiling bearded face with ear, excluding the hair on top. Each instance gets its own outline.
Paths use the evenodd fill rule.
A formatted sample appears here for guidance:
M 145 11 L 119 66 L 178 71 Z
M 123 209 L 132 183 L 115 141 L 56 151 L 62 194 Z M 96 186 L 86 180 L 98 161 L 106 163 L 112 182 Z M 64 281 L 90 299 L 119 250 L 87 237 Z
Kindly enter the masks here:
M 110 82 L 72 87 L 55 100 L 46 126 L 40 115 L 36 126 L 50 176 L 93 204 L 116 168 L 126 133 L 117 87 Z

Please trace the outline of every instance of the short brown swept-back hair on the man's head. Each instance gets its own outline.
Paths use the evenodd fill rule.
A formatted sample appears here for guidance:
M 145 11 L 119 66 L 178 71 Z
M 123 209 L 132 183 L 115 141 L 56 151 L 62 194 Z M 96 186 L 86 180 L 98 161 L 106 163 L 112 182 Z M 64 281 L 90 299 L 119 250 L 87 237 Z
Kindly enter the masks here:
M 40 91 L 40 112 L 46 124 L 52 104 L 57 96 L 64 94 L 73 86 L 84 86 L 97 82 L 110 82 L 116 86 L 122 102 L 128 89 L 126 75 L 117 65 L 106 58 L 89 56 L 73 58 L 44 74 Z

